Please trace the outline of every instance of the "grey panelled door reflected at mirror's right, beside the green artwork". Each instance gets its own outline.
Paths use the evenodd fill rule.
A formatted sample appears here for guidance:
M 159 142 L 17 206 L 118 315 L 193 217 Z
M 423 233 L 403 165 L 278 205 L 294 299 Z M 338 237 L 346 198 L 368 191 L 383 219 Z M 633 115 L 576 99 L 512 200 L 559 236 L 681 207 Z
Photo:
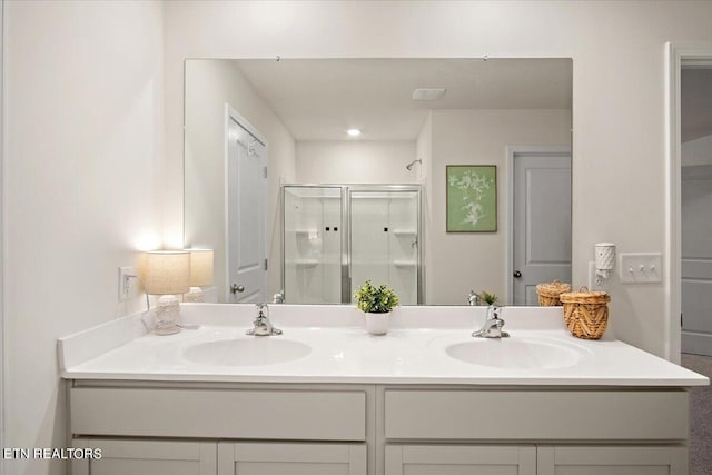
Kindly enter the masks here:
M 538 305 L 537 284 L 571 283 L 571 152 L 517 151 L 513 161 L 512 303 Z

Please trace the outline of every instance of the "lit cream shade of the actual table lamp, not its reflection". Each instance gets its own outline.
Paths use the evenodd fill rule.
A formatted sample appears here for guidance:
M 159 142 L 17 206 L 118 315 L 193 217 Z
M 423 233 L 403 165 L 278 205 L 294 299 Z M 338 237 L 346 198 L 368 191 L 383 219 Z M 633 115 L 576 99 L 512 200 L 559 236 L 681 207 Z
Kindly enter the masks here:
M 151 295 L 185 294 L 190 288 L 190 253 L 152 250 L 146 253 L 144 286 Z

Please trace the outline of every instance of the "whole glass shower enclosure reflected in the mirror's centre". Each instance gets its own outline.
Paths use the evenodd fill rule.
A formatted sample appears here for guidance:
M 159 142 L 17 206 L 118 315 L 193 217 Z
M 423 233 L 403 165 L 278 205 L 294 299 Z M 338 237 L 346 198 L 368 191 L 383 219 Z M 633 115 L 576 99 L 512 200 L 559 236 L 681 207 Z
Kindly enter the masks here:
M 419 186 L 285 185 L 281 197 L 286 303 L 349 303 L 366 279 L 422 303 Z

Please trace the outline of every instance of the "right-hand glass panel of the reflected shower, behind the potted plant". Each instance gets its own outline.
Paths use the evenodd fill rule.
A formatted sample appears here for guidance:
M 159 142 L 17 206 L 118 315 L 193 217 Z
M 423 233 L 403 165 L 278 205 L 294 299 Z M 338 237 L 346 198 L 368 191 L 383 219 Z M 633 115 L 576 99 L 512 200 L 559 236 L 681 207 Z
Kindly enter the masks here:
M 370 279 L 418 304 L 418 215 L 417 190 L 349 191 L 352 295 Z

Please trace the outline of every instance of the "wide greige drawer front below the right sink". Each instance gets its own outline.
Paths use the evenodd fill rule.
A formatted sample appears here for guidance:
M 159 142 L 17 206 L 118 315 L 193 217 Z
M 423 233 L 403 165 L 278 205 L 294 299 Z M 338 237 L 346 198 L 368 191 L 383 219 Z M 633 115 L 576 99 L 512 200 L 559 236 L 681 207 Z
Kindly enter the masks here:
M 680 441 L 688 417 L 684 390 L 385 392 L 390 439 Z

